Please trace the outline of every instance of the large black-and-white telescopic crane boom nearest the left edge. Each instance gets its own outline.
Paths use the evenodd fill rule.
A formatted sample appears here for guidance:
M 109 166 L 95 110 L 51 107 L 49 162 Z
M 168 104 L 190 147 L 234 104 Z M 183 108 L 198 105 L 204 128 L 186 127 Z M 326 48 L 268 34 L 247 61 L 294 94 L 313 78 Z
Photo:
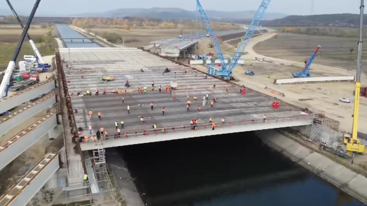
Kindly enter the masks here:
M 22 36 L 18 41 L 17 48 L 15 48 L 15 52 L 13 54 L 13 57 L 12 57 L 11 61 L 9 62 L 8 67 L 6 68 L 6 71 L 5 71 L 5 74 L 4 74 L 4 77 L 3 77 L 3 81 L 1 81 L 1 84 L 0 84 L 0 99 L 3 98 L 3 96 L 5 96 L 5 94 L 6 94 L 8 84 L 10 82 L 10 78 L 11 78 L 11 75 L 13 73 L 13 69 L 15 67 L 15 60 L 17 60 L 17 57 L 18 57 L 19 52 L 21 50 L 24 38 L 25 38 L 25 36 L 26 36 L 26 34 L 29 30 L 30 23 L 33 20 L 34 14 L 36 13 L 36 10 L 37 10 L 38 5 L 40 4 L 40 1 L 41 0 L 36 0 L 36 3 L 34 4 L 33 9 L 32 9 L 32 11 L 31 11 L 31 13 L 28 17 L 28 21 L 27 21 L 27 23 L 26 23 L 26 25 L 23 29 Z

